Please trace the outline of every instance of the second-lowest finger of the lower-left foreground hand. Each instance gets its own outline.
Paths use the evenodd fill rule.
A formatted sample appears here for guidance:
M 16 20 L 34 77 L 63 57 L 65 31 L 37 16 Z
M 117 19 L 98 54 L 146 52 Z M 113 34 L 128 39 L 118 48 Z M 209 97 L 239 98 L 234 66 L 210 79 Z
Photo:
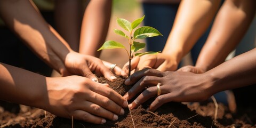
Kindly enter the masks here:
M 93 114 L 95 116 L 100 116 L 103 118 L 107 118 L 107 119 L 110 119 L 111 121 L 116 121 L 118 119 L 118 116 L 116 114 L 111 113 L 111 111 L 106 110 L 105 108 L 103 108 L 95 103 L 85 101 L 85 102 L 82 102 L 81 104 L 82 104 L 82 106 L 85 106 L 85 107 L 82 107 L 80 109 L 87 111 L 90 114 Z

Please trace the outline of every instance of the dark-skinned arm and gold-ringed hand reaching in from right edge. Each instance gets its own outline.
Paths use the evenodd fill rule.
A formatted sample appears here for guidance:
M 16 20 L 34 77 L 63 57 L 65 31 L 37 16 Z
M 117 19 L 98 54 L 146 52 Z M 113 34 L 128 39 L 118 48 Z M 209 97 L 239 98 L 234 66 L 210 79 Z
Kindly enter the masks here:
M 156 97 L 156 84 L 161 83 L 161 95 L 149 106 L 149 110 L 154 111 L 166 102 L 204 101 L 217 92 L 255 84 L 255 54 L 256 48 L 203 74 L 182 71 L 161 72 L 155 69 L 137 71 L 125 81 L 126 85 L 134 85 L 124 98 L 132 99 L 142 91 L 129 105 L 131 109 L 138 107 L 146 100 Z

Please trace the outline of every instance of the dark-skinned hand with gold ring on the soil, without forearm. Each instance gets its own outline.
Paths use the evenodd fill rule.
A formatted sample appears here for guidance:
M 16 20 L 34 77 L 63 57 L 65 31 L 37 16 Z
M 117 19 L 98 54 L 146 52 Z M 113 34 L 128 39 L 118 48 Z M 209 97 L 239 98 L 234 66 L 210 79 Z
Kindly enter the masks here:
M 143 69 L 132 74 L 126 79 L 126 85 L 133 87 L 124 95 L 130 100 L 135 95 L 142 93 L 129 105 L 130 109 L 136 108 L 150 98 L 156 99 L 149 106 L 154 111 L 166 102 L 192 102 L 204 101 L 211 97 L 213 91 L 208 87 L 210 77 L 204 74 L 193 74 L 182 71 L 158 71 L 156 69 Z M 161 83 L 161 95 L 157 97 L 157 83 Z M 146 89 L 145 89 L 146 88 Z

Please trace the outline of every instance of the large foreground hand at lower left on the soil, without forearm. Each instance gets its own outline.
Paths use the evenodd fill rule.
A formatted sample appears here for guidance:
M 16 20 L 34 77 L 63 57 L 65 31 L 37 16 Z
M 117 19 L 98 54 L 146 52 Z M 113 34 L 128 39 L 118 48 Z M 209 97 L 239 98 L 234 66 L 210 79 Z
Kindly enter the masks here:
M 81 76 L 47 78 L 47 92 L 42 94 L 43 109 L 51 113 L 90 123 L 102 124 L 106 119 L 115 121 L 123 115 L 126 100 L 108 84 L 93 82 Z

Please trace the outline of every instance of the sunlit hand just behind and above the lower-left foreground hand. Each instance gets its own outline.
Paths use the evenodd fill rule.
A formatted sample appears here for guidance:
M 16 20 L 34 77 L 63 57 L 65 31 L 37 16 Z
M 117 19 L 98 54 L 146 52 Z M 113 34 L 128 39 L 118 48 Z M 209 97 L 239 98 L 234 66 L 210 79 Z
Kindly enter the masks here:
M 109 81 L 116 79 L 113 73 L 103 65 L 103 62 L 99 58 L 77 52 L 67 54 L 65 69 L 61 71 L 61 75 L 81 75 L 93 81 L 98 81 L 98 78 L 92 72 L 98 76 L 104 75 Z

